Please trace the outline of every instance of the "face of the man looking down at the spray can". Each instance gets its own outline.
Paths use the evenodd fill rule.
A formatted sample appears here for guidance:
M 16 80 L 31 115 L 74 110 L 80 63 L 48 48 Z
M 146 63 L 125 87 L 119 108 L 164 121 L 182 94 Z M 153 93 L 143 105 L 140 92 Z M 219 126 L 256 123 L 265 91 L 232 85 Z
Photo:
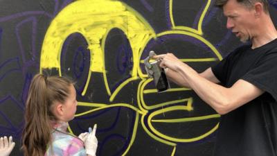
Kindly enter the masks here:
M 236 0 L 229 0 L 223 6 L 224 15 L 227 17 L 226 27 L 240 37 L 240 41 L 251 40 L 254 34 L 255 10 L 243 6 Z

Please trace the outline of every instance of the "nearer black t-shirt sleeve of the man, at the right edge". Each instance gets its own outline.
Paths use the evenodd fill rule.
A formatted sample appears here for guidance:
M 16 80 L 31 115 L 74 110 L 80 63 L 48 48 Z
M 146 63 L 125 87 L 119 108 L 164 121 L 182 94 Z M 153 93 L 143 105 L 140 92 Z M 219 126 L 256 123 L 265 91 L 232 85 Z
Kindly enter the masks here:
M 265 55 L 242 80 L 268 92 L 277 101 L 277 52 Z

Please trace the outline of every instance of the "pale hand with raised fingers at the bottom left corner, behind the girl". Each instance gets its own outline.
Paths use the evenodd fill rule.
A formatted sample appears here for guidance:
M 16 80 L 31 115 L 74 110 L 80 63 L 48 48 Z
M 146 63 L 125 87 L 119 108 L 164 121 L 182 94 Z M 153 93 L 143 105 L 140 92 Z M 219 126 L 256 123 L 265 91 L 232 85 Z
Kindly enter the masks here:
M 6 136 L 0 138 L 0 156 L 9 156 L 14 147 L 15 142 L 12 141 L 12 136 L 9 139 Z

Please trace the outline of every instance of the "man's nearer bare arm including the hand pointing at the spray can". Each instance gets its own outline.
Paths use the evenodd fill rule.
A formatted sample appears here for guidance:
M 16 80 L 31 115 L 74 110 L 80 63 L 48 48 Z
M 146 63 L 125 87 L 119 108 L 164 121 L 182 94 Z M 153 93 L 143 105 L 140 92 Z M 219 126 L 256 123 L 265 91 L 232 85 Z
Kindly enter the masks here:
M 245 80 L 238 80 L 230 88 L 217 85 L 217 79 L 213 79 L 213 76 L 211 76 L 211 73 L 213 73 L 211 69 L 207 69 L 208 74 L 205 71 L 202 73 L 204 77 L 211 76 L 206 79 L 171 53 L 158 55 L 157 58 L 161 59 L 161 67 L 167 67 L 179 73 L 179 76 L 186 81 L 197 95 L 219 114 L 226 114 L 231 110 L 235 110 L 235 108 L 244 105 L 264 92 Z

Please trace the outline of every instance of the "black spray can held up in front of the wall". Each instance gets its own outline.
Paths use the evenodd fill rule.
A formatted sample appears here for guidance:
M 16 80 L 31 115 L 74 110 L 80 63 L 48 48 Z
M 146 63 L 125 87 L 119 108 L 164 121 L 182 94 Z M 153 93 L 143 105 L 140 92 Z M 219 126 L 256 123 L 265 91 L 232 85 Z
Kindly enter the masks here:
M 159 66 L 160 61 L 156 60 L 154 62 L 150 62 L 150 58 L 152 58 L 153 55 L 156 55 L 154 51 L 150 51 L 148 58 L 145 58 L 145 70 L 148 73 L 148 77 L 154 79 L 158 92 L 163 92 L 170 88 L 170 84 L 168 82 L 168 78 L 166 77 L 165 70 Z

